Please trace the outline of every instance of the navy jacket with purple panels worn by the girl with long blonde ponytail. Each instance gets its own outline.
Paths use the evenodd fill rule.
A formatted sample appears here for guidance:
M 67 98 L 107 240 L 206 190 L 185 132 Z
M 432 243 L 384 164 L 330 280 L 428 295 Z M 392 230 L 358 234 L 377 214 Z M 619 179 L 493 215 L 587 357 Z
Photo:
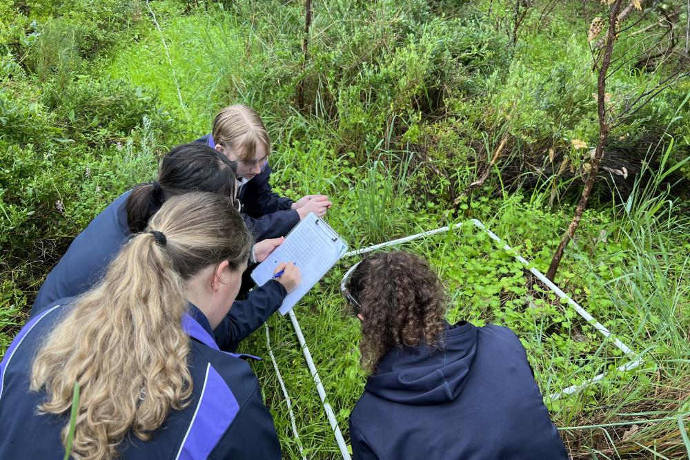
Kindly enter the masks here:
M 61 459 L 63 416 L 37 414 L 45 392 L 29 391 L 29 376 L 41 339 L 72 299 L 59 300 L 34 316 L 17 334 L 0 363 L 0 459 Z M 194 305 L 183 327 L 190 335 L 191 403 L 168 414 L 150 441 L 125 437 L 124 459 L 280 459 L 273 419 L 259 381 L 244 358 L 221 352 L 206 316 Z

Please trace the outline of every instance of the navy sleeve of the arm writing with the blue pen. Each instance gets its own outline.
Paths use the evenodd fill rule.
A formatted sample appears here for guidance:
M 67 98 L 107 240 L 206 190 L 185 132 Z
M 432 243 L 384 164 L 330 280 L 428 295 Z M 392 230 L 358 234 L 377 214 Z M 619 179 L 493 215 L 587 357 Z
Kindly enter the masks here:
M 237 345 L 258 329 L 282 305 L 287 291 L 276 280 L 251 291 L 247 300 L 233 302 L 230 312 L 213 329 L 218 347 L 224 352 L 235 352 Z

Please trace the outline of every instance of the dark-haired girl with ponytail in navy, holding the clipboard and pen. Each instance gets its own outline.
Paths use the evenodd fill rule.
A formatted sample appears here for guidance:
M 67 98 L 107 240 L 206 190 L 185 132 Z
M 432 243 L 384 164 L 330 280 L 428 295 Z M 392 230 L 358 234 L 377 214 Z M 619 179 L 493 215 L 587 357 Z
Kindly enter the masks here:
M 234 164 L 225 155 L 203 144 L 182 144 L 161 160 L 158 178 L 139 184 L 106 207 L 79 233 L 65 255 L 48 274 L 41 286 L 31 316 L 60 298 L 88 291 L 101 280 L 106 267 L 132 236 L 143 231 L 167 200 L 193 191 L 217 193 L 230 198 L 236 208 L 239 201 Z M 238 209 L 239 211 L 239 209 Z M 250 253 L 259 260 L 282 240 L 264 240 Z M 262 325 L 295 288 L 287 277 L 271 280 L 255 289 L 247 300 L 238 302 L 231 316 L 215 330 L 219 345 L 232 351 L 243 338 Z

